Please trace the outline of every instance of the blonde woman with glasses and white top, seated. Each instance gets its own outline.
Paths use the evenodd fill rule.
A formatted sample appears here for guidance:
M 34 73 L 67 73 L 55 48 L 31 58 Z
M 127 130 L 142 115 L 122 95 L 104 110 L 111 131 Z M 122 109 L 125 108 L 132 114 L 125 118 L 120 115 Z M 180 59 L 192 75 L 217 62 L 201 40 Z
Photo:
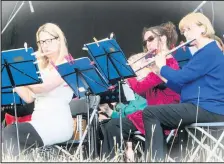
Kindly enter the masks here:
M 15 88 L 25 102 L 35 103 L 31 121 L 18 123 L 21 151 L 24 145 L 27 148 L 65 142 L 72 138 L 74 129 L 69 107 L 73 91 L 54 68 L 66 62 L 66 38 L 57 25 L 46 23 L 39 27 L 36 40 L 43 83 Z M 13 156 L 19 154 L 14 124 L 3 129 L 2 142 L 4 155 L 8 151 Z M 14 146 L 12 150 L 10 142 Z

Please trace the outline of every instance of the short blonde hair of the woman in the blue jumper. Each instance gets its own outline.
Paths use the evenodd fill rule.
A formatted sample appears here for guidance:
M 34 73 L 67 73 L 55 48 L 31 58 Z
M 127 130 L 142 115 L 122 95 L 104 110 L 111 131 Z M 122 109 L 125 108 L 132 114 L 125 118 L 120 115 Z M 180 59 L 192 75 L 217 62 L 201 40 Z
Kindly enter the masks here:
M 198 26 L 205 27 L 205 33 L 203 36 L 214 39 L 215 30 L 210 22 L 210 20 L 202 13 L 190 13 L 181 19 L 179 23 L 179 29 L 183 32 L 183 28 L 188 25 L 194 23 Z

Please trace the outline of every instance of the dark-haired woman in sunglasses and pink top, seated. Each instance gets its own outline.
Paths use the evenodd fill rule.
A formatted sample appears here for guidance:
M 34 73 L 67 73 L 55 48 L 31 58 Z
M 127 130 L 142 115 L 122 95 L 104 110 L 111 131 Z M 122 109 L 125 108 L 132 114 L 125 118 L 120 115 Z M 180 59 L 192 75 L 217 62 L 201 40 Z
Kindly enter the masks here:
M 159 26 L 144 29 L 143 46 L 146 52 L 151 52 L 152 50 L 157 49 L 157 51 L 154 51 L 154 56 L 156 56 L 161 50 L 168 51 L 171 49 L 171 47 L 176 44 L 177 37 L 178 35 L 175 26 L 173 23 L 168 22 Z M 179 69 L 178 63 L 172 55 L 167 57 L 166 63 L 175 70 Z M 179 95 L 164 86 L 162 79 L 158 77 L 153 70 L 150 68 L 147 68 L 146 70 L 148 71 L 146 73 L 147 76 L 143 80 L 138 81 L 136 78 L 129 78 L 127 80 L 130 87 L 137 94 L 145 94 L 148 105 L 179 103 Z M 117 144 L 120 143 L 119 118 L 111 119 L 104 125 L 102 130 L 104 131 L 102 153 L 105 157 L 108 157 L 110 154 L 109 158 L 113 158 L 115 155 L 113 137 L 116 136 Z M 125 140 L 128 139 L 130 130 L 132 132 L 139 130 L 145 134 L 142 111 L 139 110 L 123 118 L 122 130 Z

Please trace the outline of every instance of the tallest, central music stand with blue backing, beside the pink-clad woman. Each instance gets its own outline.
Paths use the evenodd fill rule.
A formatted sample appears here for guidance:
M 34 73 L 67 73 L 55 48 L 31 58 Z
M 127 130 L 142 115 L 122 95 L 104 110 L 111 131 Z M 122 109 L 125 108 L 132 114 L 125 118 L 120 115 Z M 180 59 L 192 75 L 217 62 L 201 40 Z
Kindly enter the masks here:
M 136 77 L 134 70 L 128 64 L 127 59 L 115 39 L 103 39 L 84 44 L 86 49 L 102 74 L 114 85 L 118 83 L 119 103 L 121 103 L 121 84 L 125 78 Z M 122 151 L 122 112 L 120 109 L 120 150 Z

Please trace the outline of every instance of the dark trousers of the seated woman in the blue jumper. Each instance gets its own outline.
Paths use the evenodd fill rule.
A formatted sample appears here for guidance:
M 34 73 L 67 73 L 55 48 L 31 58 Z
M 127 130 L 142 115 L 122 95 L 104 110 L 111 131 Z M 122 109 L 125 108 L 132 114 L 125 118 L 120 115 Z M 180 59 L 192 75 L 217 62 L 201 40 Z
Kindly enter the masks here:
M 182 119 L 181 127 L 196 122 L 197 106 L 190 103 L 148 106 L 143 110 L 143 122 L 146 132 L 145 157 L 147 161 L 164 160 L 166 144 L 163 137 L 164 129 L 176 129 Z M 197 122 L 221 122 L 224 115 L 211 113 L 199 108 Z M 153 126 L 154 130 L 153 130 Z M 146 153 L 149 152 L 151 159 Z M 155 157 L 155 158 L 154 158 Z

